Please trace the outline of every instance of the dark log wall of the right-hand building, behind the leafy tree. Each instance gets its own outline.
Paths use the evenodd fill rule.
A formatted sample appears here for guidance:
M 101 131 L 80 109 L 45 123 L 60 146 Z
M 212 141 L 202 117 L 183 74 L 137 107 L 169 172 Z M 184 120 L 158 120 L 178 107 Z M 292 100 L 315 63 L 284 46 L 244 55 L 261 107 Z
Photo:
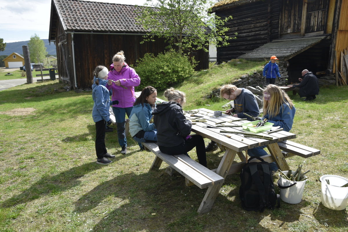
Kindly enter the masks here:
M 221 18 L 232 16 L 226 35 L 237 37 L 230 45 L 217 48 L 217 61 L 229 61 L 279 37 L 280 0 L 265 0 L 217 10 Z M 235 35 L 235 33 L 238 33 Z

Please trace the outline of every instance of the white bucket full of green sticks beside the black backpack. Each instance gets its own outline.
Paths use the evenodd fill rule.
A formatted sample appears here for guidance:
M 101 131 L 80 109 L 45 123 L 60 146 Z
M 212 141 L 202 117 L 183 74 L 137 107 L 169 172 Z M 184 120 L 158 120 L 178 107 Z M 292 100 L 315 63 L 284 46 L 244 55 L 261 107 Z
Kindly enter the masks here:
M 288 171 L 283 171 L 286 175 Z M 307 178 L 304 175 L 304 178 Z M 280 199 L 282 199 L 286 203 L 297 204 L 302 200 L 302 194 L 304 190 L 304 184 L 306 181 L 289 181 L 284 179 L 279 174 L 278 187 L 280 189 Z

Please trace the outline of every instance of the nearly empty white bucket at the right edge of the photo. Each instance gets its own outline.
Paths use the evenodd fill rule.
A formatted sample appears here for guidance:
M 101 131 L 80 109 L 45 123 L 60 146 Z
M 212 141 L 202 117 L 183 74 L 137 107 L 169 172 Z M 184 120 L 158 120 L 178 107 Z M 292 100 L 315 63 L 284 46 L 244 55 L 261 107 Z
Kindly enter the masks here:
M 326 183 L 326 179 L 330 184 Z M 336 175 L 320 177 L 322 182 L 322 204 L 330 209 L 343 210 L 347 206 L 348 187 L 340 187 L 348 183 L 348 179 Z

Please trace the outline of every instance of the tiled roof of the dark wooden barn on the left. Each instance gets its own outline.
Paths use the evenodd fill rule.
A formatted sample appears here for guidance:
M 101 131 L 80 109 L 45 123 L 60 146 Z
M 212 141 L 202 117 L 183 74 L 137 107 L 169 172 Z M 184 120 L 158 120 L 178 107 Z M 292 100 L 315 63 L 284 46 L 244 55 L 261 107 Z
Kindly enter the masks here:
M 52 0 L 52 5 L 54 5 L 57 15 L 66 31 L 140 33 L 150 31 L 135 24 L 135 17 L 137 15 L 134 11 L 139 11 L 144 6 L 79 0 Z M 52 10 L 54 10 L 53 7 Z

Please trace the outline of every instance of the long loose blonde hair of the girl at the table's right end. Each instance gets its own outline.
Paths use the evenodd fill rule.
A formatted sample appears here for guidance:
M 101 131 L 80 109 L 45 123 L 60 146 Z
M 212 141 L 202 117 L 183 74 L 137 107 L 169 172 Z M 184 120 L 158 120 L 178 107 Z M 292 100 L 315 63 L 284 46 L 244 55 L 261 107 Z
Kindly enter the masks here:
M 265 92 L 271 95 L 271 99 L 269 102 L 263 99 L 263 115 L 268 114 L 270 118 L 275 117 L 279 113 L 280 106 L 284 103 L 290 109 L 294 106 L 289 96 L 276 85 L 268 85 L 263 93 Z

